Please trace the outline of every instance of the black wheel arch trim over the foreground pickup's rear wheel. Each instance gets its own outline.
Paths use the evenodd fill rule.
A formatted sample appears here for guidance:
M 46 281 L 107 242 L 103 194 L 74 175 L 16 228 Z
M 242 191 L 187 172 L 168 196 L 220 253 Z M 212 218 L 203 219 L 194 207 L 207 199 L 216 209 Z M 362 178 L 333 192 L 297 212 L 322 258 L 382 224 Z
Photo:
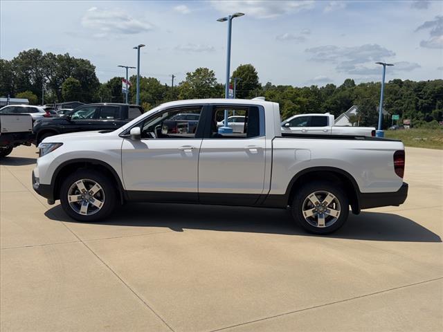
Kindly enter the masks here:
M 287 187 L 285 194 L 287 197 L 287 205 L 291 205 L 296 190 L 300 185 L 314 180 L 340 183 L 350 201 L 352 213 L 360 213 L 359 185 L 357 185 L 351 174 L 336 167 L 310 167 L 298 172 L 293 176 Z

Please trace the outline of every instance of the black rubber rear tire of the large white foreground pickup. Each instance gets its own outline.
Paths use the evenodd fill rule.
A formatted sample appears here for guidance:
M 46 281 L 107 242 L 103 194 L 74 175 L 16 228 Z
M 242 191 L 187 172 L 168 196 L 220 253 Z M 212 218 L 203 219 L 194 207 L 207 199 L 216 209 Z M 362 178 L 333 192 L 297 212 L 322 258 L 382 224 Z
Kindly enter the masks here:
M 317 193 L 315 196 L 320 205 L 315 205 L 309 199 L 311 194 Z M 332 200 L 333 203 L 329 203 L 327 206 L 322 206 L 323 200 L 325 200 L 327 194 L 330 193 L 334 196 Z M 314 196 L 311 196 L 314 201 Z M 330 196 L 329 196 L 330 197 Z M 327 201 L 325 202 L 325 204 Z M 305 206 L 303 206 L 305 205 Z M 312 206 L 310 206 L 312 205 Z M 307 216 L 303 213 L 303 210 L 308 211 L 308 209 L 315 209 L 314 216 Z M 332 213 L 339 210 L 340 214 L 338 218 L 327 214 L 327 212 Z M 321 214 L 318 211 L 321 210 L 325 213 Z M 314 234 L 329 234 L 341 228 L 345 221 L 347 221 L 347 216 L 349 216 L 349 199 L 345 194 L 345 191 L 337 184 L 327 182 L 327 181 L 315 181 L 304 185 L 294 196 L 292 206 L 291 206 L 292 216 L 302 228 L 305 228 L 308 232 Z M 323 216 L 324 221 L 320 222 L 318 216 Z M 317 221 L 316 221 L 317 220 Z M 324 226 L 321 225 L 324 223 Z M 328 225 L 329 223 L 329 225 Z

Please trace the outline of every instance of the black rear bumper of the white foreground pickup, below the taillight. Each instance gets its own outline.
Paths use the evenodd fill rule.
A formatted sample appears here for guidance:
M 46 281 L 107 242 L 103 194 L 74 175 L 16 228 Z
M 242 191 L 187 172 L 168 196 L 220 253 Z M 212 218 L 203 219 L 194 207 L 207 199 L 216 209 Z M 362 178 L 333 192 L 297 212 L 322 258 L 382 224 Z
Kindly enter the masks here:
M 408 183 L 404 182 L 397 192 L 360 193 L 360 209 L 379 208 L 381 206 L 399 206 L 408 197 Z

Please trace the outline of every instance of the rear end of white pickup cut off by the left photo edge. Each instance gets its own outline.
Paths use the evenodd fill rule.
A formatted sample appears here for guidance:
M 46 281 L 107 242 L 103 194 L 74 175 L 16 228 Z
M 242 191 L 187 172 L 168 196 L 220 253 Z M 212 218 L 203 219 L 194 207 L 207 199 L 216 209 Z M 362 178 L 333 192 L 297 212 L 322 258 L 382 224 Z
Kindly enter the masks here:
M 33 118 L 26 113 L 0 113 L 0 158 L 33 141 Z

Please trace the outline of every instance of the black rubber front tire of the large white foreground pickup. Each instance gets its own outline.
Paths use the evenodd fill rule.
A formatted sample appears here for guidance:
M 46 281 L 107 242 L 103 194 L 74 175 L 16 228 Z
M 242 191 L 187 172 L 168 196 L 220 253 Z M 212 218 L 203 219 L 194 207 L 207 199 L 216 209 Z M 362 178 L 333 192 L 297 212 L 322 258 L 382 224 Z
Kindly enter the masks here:
M 87 190 L 90 190 L 91 187 L 87 187 L 91 185 L 91 183 L 95 182 L 100 185 L 102 189 L 102 199 L 103 203 L 100 209 L 93 214 L 80 214 L 80 212 L 75 211 L 74 208 L 81 203 L 69 203 L 68 195 L 73 194 L 70 192 L 71 187 L 75 185 L 80 180 L 84 181 L 84 186 Z M 100 193 L 99 193 L 100 194 Z M 79 194 L 75 194 L 74 196 L 78 196 Z M 93 197 L 92 199 L 97 198 Z M 100 197 L 98 197 L 98 201 L 100 202 Z M 80 169 L 77 172 L 69 175 L 63 181 L 62 186 L 60 187 L 60 202 L 62 203 L 62 208 L 66 214 L 71 216 L 72 219 L 82 221 L 82 222 L 91 222 L 91 221 L 99 221 L 100 219 L 105 219 L 109 214 L 114 211 L 114 208 L 117 205 L 117 192 L 116 186 L 107 176 L 100 174 L 93 169 Z M 74 208 L 71 207 L 71 204 L 74 205 Z M 88 205 L 89 207 L 89 205 Z M 91 205 L 89 209 L 94 209 L 95 206 Z M 88 209 L 88 208 L 87 208 Z

